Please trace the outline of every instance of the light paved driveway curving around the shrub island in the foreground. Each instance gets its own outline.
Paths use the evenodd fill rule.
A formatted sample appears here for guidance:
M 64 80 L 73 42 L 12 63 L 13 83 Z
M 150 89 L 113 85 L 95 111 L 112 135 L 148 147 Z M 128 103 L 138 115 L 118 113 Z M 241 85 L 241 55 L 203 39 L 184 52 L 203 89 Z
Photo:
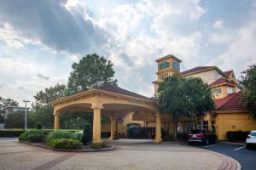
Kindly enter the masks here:
M 116 150 L 73 153 L 0 139 L 0 169 L 237 169 L 228 156 L 183 144 L 121 139 Z

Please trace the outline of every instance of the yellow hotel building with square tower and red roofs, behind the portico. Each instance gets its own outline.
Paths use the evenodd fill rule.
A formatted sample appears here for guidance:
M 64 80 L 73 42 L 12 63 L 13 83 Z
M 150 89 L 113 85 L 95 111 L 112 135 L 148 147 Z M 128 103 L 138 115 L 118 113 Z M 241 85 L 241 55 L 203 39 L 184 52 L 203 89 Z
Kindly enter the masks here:
M 158 65 L 156 72 L 157 80 L 154 81 L 154 93 L 157 93 L 159 82 L 164 81 L 165 77 L 173 74 L 181 77 L 200 77 L 212 88 L 212 95 L 216 105 L 216 112 L 207 115 L 200 121 L 193 121 L 188 117 L 181 118 L 178 124 L 178 132 L 187 133 L 193 128 L 207 128 L 214 130 L 218 139 L 225 140 L 228 131 L 249 131 L 256 129 L 255 120 L 249 117 L 248 112 L 239 103 L 240 90 L 237 85 L 234 71 L 221 71 L 217 66 L 197 66 L 187 71 L 180 71 L 181 59 L 174 55 L 167 55 L 155 60 Z M 136 113 L 129 113 L 119 117 L 116 133 L 126 134 L 127 127 L 131 123 L 138 123 L 141 127 L 154 127 L 154 119 L 147 116 L 138 118 Z M 104 122 L 102 131 L 110 130 L 108 122 Z M 167 133 L 173 133 L 172 116 L 161 115 L 161 127 Z

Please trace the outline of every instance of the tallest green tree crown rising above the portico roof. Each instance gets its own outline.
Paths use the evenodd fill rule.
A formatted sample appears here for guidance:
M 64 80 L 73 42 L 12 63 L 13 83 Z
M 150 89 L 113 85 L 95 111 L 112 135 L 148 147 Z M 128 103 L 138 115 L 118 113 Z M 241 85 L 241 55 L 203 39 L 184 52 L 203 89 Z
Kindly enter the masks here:
M 67 82 L 69 94 L 103 84 L 117 85 L 117 80 L 113 78 L 113 64 L 98 54 L 87 54 L 79 63 L 73 63 L 72 68 Z

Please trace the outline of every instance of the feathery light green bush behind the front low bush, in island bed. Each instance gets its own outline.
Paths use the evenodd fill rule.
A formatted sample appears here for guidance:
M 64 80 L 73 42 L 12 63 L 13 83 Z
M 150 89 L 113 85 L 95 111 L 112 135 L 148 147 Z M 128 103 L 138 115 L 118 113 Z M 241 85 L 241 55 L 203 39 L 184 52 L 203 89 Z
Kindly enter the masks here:
M 58 131 L 49 133 L 46 141 L 49 144 L 52 139 L 79 139 L 79 136 L 80 135 L 76 133 L 71 133 L 64 130 L 58 130 Z

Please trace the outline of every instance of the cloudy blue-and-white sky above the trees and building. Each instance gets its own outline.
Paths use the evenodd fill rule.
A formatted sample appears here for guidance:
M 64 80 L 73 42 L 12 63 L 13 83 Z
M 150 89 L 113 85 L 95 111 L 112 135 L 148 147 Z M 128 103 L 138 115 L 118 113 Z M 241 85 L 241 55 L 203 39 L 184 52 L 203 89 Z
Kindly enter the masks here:
M 0 96 L 33 100 L 66 83 L 73 62 L 111 59 L 119 86 L 152 96 L 155 59 L 182 70 L 256 62 L 256 3 L 249 0 L 0 0 Z

